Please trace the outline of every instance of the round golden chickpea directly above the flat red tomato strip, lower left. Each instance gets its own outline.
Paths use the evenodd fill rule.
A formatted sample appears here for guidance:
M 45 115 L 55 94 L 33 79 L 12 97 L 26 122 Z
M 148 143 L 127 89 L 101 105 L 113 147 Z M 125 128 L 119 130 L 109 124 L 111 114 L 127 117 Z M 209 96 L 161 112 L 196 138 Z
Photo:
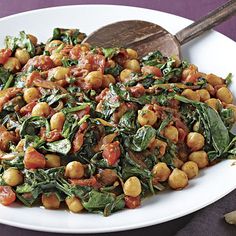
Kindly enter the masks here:
M 65 176 L 80 179 L 84 176 L 84 166 L 79 161 L 72 161 L 66 165 Z

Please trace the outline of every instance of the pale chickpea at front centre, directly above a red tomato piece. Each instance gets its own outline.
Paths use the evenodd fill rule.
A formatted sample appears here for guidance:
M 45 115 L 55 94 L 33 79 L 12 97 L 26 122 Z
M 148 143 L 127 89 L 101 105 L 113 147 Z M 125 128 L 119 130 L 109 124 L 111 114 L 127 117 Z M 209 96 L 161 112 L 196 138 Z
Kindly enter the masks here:
M 123 186 L 124 194 L 130 197 L 137 197 L 142 192 L 141 183 L 136 176 L 128 178 Z

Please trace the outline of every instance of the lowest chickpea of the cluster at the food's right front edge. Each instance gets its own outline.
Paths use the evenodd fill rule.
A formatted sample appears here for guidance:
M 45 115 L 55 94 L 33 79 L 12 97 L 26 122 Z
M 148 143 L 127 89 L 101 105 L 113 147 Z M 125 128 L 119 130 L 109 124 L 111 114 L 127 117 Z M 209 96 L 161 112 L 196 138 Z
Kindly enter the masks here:
M 182 189 L 188 185 L 188 176 L 182 170 L 175 168 L 169 176 L 168 184 L 172 189 Z

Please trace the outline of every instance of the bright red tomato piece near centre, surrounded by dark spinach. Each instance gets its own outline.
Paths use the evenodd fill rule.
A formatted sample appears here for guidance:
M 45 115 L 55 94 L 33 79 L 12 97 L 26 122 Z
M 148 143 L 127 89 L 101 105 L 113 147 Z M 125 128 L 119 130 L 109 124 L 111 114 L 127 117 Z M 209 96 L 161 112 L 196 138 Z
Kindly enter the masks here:
M 109 165 L 114 165 L 120 158 L 120 142 L 115 141 L 104 146 L 102 156 L 107 160 Z

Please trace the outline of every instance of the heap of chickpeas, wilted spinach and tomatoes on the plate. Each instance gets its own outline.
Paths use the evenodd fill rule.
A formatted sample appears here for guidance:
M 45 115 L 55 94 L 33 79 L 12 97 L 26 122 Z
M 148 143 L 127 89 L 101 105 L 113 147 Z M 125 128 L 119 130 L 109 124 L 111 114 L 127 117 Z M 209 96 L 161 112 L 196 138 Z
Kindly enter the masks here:
M 0 50 L 0 203 L 102 212 L 137 208 L 235 157 L 236 106 L 223 79 L 159 51 L 44 44 L 20 32 Z

